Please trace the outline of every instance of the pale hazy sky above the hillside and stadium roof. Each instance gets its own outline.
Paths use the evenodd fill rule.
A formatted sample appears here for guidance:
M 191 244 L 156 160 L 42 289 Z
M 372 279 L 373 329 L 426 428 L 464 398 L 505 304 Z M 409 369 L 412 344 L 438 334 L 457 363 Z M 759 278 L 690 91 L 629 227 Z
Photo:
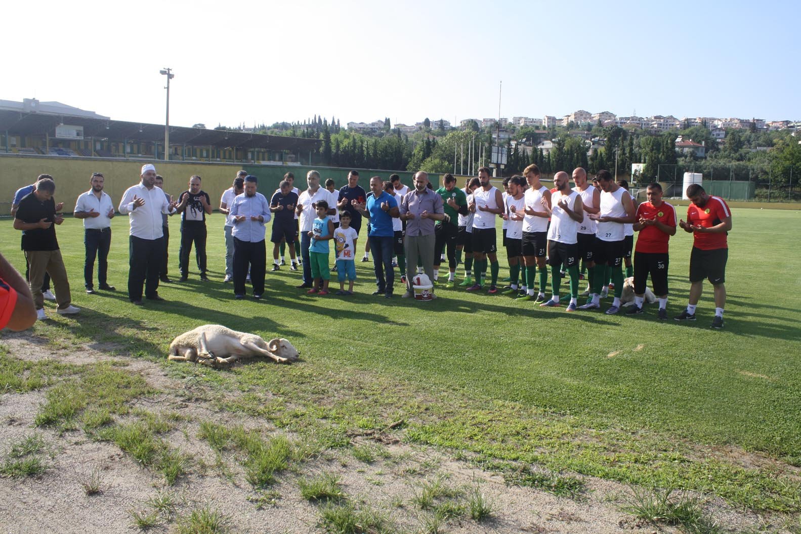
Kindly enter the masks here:
M 235 127 L 801 119 L 801 2 L 4 2 L 0 99 Z M 500 115 L 499 115 L 500 92 Z

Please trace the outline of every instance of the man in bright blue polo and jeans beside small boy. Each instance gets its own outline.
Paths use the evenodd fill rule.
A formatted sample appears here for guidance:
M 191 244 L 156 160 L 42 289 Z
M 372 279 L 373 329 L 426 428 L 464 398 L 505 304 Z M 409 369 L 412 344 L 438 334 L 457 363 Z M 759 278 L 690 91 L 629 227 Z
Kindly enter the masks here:
M 368 240 L 378 285 L 378 289 L 372 294 L 383 294 L 386 298 L 392 298 L 392 284 L 395 281 L 395 273 L 392 271 L 392 239 L 395 237 L 392 217 L 399 216 L 400 212 L 397 201 L 384 191 L 384 182 L 379 176 L 370 179 L 370 190 L 372 192 L 368 194 L 366 204 L 359 204 L 354 200 L 352 206 L 370 219 Z

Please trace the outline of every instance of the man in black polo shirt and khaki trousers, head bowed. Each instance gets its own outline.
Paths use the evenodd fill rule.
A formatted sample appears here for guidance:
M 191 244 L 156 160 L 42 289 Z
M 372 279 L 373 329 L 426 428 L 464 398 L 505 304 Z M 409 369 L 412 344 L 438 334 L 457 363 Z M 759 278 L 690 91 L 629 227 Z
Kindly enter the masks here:
M 42 178 L 36 182 L 33 192 L 19 202 L 14 214 L 14 229 L 22 230 L 22 250 L 30 265 L 30 292 L 34 296 L 34 305 L 38 319 L 46 319 L 42 280 L 45 273 L 50 273 L 58 302 L 57 314 L 77 314 L 81 311 L 71 305 L 70 282 L 66 278 L 64 260 L 58 241 L 55 237 L 54 224 L 60 225 L 64 217 L 56 215 L 53 193 L 55 183 L 50 178 Z

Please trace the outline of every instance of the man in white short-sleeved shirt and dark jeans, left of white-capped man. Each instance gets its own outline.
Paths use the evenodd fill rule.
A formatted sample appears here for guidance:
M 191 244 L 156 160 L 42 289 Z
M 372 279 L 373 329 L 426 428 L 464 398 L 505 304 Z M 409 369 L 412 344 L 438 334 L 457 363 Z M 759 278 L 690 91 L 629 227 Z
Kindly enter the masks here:
M 95 294 L 92 272 L 95 270 L 95 257 L 98 259 L 98 282 L 100 289 L 114 291 L 108 285 L 108 250 L 111 248 L 111 219 L 114 217 L 114 204 L 111 196 L 103 191 L 105 178 L 102 172 L 92 172 L 91 189 L 75 203 L 73 216 L 83 219 L 83 243 L 86 245 L 87 257 L 83 262 L 83 280 L 87 286 L 87 295 Z

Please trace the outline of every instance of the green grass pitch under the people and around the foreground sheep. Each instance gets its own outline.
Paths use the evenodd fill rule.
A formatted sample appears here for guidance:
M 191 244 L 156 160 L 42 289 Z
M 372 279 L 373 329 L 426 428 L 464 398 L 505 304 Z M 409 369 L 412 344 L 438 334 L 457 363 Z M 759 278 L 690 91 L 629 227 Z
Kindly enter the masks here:
M 292 366 L 164 365 L 221 392 L 244 392 L 221 394 L 219 407 L 232 415 L 257 415 L 328 447 L 392 425 L 401 439 L 491 469 L 537 463 L 801 512 L 799 211 L 735 210 L 722 331 L 709 327 L 709 285 L 697 322 L 661 323 L 654 308 L 636 318 L 566 314 L 444 287 L 437 301 L 386 301 L 369 294 L 372 262 L 356 263 L 356 296 L 347 299 L 306 295 L 294 288 L 300 274 L 284 267 L 268 273 L 263 301 L 235 301 L 222 283 L 222 223 L 211 216 L 211 282 L 191 272 L 186 283 L 159 288 L 167 302 L 136 307 L 126 294 L 127 217 L 114 220 L 109 283 L 118 290 L 94 296 L 83 292 L 83 227 L 67 219 L 58 241 L 83 311 L 64 318 L 47 303 L 50 320 L 34 333 L 55 352 L 84 343 L 158 360 L 175 335 L 206 323 L 284 337 L 302 354 Z M 0 220 L 0 250 L 24 270 L 19 239 L 11 221 Z M 670 317 L 686 305 L 690 246 L 681 231 L 671 239 Z M 501 277 L 506 272 L 501 258 Z

